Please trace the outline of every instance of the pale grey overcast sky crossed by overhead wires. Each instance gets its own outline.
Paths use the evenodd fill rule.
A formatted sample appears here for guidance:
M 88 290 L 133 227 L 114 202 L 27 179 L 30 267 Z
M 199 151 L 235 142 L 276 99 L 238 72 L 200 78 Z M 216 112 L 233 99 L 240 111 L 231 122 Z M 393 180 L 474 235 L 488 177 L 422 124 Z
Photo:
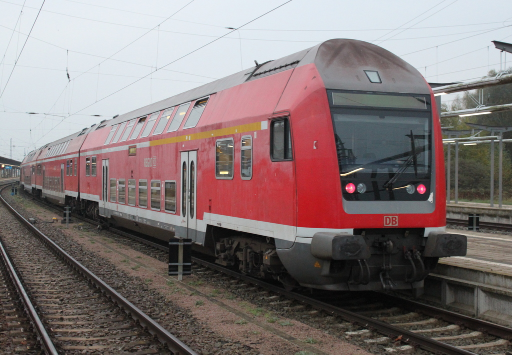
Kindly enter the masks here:
M 0 156 L 331 38 L 465 81 L 504 67 L 491 41 L 512 42 L 512 3 L 0 0 Z

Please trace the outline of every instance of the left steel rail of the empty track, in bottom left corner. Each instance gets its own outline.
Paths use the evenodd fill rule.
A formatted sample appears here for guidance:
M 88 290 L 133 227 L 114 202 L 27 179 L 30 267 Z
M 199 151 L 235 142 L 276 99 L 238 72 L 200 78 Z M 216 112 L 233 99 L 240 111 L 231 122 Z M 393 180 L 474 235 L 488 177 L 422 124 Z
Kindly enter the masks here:
M 4 242 L 2 239 L 0 239 L 0 251 L 2 252 L 2 259 L 4 260 L 4 263 L 7 267 L 7 271 L 11 276 L 11 280 L 16 287 L 16 291 L 18 292 L 19 297 L 22 299 L 23 306 L 25 307 L 27 316 L 29 317 L 30 323 L 34 328 L 42 349 L 47 355 L 58 355 L 57 349 L 55 349 L 55 346 L 53 345 L 53 342 L 50 339 L 45 326 L 42 324 L 41 319 L 39 318 L 37 311 L 35 310 L 35 307 L 29 298 L 29 295 L 25 291 L 25 287 L 23 287 L 22 281 L 19 279 L 16 270 L 14 269 L 14 265 L 12 264 L 9 255 L 7 254 L 7 250 L 4 247 Z

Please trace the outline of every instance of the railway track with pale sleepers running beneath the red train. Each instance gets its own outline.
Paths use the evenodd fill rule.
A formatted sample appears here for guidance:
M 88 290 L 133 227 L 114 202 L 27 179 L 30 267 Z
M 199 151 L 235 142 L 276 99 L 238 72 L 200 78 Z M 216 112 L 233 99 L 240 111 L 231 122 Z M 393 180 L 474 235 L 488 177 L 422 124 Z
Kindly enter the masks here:
M 115 229 L 108 234 L 162 261 L 168 257 L 166 246 L 140 236 Z M 304 322 L 322 323 L 330 334 L 373 352 L 504 355 L 511 350 L 512 329 L 443 309 L 376 293 L 291 293 L 199 258 L 193 261 L 194 273 L 208 282 L 219 282 L 234 293 L 247 295 L 249 290 L 251 301 Z M 219 272 L 226 276 L 219 277 Z

